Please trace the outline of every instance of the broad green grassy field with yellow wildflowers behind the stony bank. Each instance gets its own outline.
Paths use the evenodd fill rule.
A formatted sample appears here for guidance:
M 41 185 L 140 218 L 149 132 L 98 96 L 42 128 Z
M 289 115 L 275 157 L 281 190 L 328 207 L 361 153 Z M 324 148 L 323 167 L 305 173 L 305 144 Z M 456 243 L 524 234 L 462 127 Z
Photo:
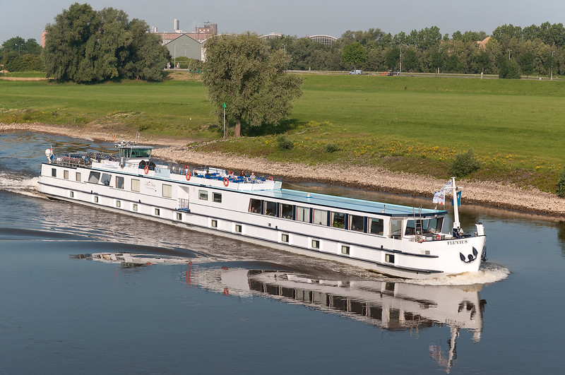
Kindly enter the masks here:
M 103 126 L 186 138 L 196 148 L 308 164 L 382 165 L 449 177 L 472 148 L 475 179 L 554 191 L 565 164 L 564 81 L 408 76 L 304 76 L 304 95 L 278 127 L 220 140 L 206 91 L 194 80 L 57 84 L 0 81 L 0 121 Z M 229 104 L 228 104 L 229 105 Z M 283 133 L 295 145 L 278 148 Z

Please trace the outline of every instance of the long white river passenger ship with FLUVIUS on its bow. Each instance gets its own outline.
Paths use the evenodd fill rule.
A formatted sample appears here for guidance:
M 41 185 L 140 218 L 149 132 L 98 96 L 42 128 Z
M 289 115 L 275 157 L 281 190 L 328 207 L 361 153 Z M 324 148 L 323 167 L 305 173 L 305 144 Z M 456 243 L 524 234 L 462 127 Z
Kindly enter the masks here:
M 463 234 L 456 217 L 453 232 L 442 232 L 445 210 L 282 189 L 270 177 L 155 163 L 148 146 L 117 148 L 115 157 L 47 150 L 40 191 L 400 278 L 473 273 L 484 257 L 483 225 Z

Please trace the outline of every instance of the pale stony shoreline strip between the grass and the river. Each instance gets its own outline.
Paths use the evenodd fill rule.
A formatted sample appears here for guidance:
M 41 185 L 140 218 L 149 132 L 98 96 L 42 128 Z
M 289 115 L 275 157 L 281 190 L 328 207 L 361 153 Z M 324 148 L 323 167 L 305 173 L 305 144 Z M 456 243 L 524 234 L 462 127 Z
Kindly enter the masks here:
M 47 124 L 0 124 L 0 132 L 30 131 L 47 133 L 90 141 L 114 141 L 114 135 L 104 129 L 69 129 Z M 130 138 L 130 137 L 127 137 Z M 283 177 L 291 181 L 316 181 L 326 184 L 352 186 L 361 189 L 406 194 L 429 198 L 430 201 L 446 181 L 434 177 L 402 172 L 390 172 L 380 167 L 340 165 L 303 165 L 292 162 L 271 162 L 258 158 L 221 153 L 198 153 L 186 148 L 187 141 L 167 138 L 145 138 L 141 143 L 161 146 L 153 150 L 153 156 L 189 165 L 210 165 L 223 169 L 253 171 L 256 174 Z M 463 203 L 473 203 L 494 208 L 550 215 L 565 220 L 565 199 L 538 189 L 521 189 L 492 181 L 458 181 L 463 189 Z

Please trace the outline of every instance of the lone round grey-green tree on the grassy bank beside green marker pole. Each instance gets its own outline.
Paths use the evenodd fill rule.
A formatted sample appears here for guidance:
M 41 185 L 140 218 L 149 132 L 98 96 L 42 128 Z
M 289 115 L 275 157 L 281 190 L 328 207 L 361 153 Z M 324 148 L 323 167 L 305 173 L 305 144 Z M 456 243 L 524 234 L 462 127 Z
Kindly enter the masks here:
M 203 83 L 220 119 L 225 103 L 235 136 L 241 136 L 242 121 L 278 124 L 290 114 L 292 100 L 302 95 L 302 78 L 286 73 L 288 62 L 285 51 L 271 51 L 256 33 L 206 40 Z

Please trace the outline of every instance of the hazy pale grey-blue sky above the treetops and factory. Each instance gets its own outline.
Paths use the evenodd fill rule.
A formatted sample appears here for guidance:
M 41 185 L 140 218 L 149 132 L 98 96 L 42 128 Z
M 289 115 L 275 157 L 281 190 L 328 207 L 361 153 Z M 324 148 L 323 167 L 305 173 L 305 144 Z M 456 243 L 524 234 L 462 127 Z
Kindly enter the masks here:
M 0 43 L 11 37 L 41 41 L 47 23 L 71 0 L 0 0 Z M 173 31 L 174 18 L 184 31 L 204 22 L 218 32 L 280 32 L 285 35 L 326 34 L 380 28 L 396 34 L 438 26 L 441 34 L 484 31 L 512 23 L 521 27 L 565 21 L 564 0 L 90 0 L 95 10 L 113 7 L 129 19 L 140 18 L 160 32 Z M 348 4 L 348 5 L 346 5 Z

